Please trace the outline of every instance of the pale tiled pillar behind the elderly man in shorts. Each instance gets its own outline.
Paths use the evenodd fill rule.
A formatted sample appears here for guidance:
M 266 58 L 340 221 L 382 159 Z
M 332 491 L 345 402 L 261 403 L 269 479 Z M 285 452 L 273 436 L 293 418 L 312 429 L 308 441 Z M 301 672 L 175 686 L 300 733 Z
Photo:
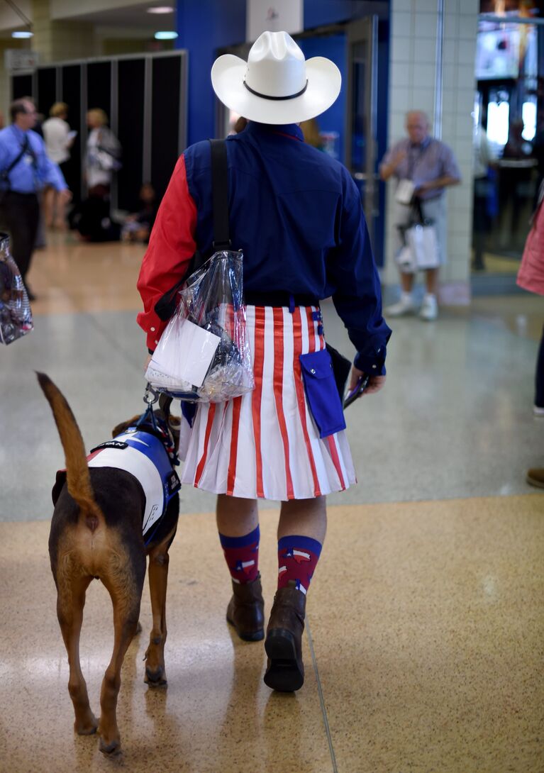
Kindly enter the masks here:
M 444 300 L 467 302 L 472 227 L 472 117 L 478 0 L 444 0 L 442 135 L 461 167 L 461 186 L 447 191 L 448 262 L 441 270 Z M 437 83 L 437 0 L 392 0 L 389 50 L 388 145 L 405 136 L 407 110 L 423 110 L 433 124 Z M 396 284 L 392 254 L 393 182 L 387 184 L 384 281 Z

